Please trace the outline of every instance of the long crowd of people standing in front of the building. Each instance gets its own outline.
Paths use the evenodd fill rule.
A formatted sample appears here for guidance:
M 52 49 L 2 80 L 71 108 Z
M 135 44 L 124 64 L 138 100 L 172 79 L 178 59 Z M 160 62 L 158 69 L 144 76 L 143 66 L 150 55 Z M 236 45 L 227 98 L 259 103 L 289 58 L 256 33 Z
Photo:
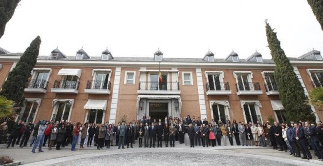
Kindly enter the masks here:
M 7 128 L 6 123 L 0 126 L 0 140 Z M 89 124 L 88 122 L 81 124 L 76 122 L 53 122 L 39 121 L 36 125 L 32 121 L 24 124 L 18 121 L 12 129 L 9 136 L 7 148 L 11 145 L 20 145 L 21 148 L 28 145 L 29 137 L 32 134 L 29 146 L 33 146 L 32 153 L 44 152 L 44 146 L 51 150 L 54 147 L 60 150 L 61 146 L 71 145 L 71 150 L 79 148 L 96 146 L 97 149 L 110 146 L 118 146 L 119 148 L 133 148 L 135 140 L 138 140 L 139 148 L 153 147 L 175 147 L 175 141 L 180 144 L 185 143 L 185 133 L 189 138 L 190 147 L 197 145 L 208 147 L 216 145 L 242 145 L 242 146 L 272 146 L 273 149 L 279 151 L 289 151 L 290 155 L 301 157 L 303 159 L 312 159 L 309 148 L 314 149 L 319 159 L 323 159 L 323 151 L 320 146 L 323 145 L 323 125 L 318 122 L 317 126 L 311 125 L 309 122 L 299 122 L 290 124 L 274 124 L 263 123 L 259 121 L 249 124 L 244 122 L 237 123 L 230 120 L 216 123 L 214 119 L 208 123 L 207 119 L 203 121 L 200 118 L 165 117 L 163 122 L 161 119 L 152 120 L 150 117 L 141 116 L 137 121 L 130 123 L 120 122 L 118 124 L 109 122 L 105 124 Z M 234 139 L 233 139 L 234 138 Z M 235 141 L 233 141 L 235 140 Z M 143 142 L 143 145 L 142 145 Z M 163 143 L 164 142 L 164 143 Z M 279 149 L 278 149 L 279 148 Z

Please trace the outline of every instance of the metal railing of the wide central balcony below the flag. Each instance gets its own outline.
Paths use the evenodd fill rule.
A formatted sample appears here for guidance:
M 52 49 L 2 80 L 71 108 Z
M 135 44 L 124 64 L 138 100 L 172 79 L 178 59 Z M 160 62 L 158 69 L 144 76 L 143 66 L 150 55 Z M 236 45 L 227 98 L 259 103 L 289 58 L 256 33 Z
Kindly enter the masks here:
M 178 82 L 139 82 L 139 90 L 179 91 L 180 85 Z

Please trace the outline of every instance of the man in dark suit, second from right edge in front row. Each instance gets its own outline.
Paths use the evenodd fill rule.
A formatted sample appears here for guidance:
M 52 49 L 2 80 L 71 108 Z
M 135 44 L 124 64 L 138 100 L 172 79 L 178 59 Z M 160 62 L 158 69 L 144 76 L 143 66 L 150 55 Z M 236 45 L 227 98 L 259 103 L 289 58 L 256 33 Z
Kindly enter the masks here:
M 317 135 L 317 129 L 315 125 L 310 126 L 309 122 L 305 122 L 305 132 L 307 133 L 309 137 L 310 144 L 314 151 L 316 151 L 316 154 L 318 155 L 319 159 L 323 159 L 323 151 L 320 146 L 319 138 Z

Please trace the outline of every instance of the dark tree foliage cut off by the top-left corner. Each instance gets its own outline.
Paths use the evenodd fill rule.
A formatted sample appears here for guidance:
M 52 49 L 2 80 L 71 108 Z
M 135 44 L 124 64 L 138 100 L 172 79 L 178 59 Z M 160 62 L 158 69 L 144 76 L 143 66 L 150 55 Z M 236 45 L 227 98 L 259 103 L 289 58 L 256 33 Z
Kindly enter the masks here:
M 0 0 L 0 38 L 2 37 L 5 25 L 13 16 L 20 0 Z

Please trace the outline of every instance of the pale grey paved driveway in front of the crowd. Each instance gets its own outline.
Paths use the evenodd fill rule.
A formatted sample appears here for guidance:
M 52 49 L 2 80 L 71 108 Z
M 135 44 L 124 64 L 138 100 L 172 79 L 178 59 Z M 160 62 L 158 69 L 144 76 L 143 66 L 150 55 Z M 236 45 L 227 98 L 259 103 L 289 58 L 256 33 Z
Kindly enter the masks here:
M 68 146 L 70 147 L 70 146 Z M 48 151 L 45 147 L 43 153 L 30 153 L 30 147 L 14 147 L 6 149 L 0 145 L 0 156 L 6 155 L 14 160 L 23 160 L 26 166 L 77 166 L 77 165 L 102 165 L 109 164 L 122 166 L 126 164 L 142 165 L 196 165 L 196 164 L 221 164 L 221 165 L 298 165 L 317 166 L 309 163 L 308 160 L 290 156 L 288 152 L 273 150 L 270 147 L 257 146 L 216 146 L 190 148 L 184 147 L 163 147 L 163 148 L 129 148 L 117 149 L 111 146 L 110 149 L 97 150 L 95 147 L 77 149 L 70 151 L 69 148 L 62 150 Z M 312 153 L 313 154 L 313 153 Z M 315 156 L 316 157 L 316 156 Z M 214 159 L 212 161 L 212 159 Z M 322 162 L 323 164 L 323 162 Z M 322 166 L 322 165 L 321 165 Z

